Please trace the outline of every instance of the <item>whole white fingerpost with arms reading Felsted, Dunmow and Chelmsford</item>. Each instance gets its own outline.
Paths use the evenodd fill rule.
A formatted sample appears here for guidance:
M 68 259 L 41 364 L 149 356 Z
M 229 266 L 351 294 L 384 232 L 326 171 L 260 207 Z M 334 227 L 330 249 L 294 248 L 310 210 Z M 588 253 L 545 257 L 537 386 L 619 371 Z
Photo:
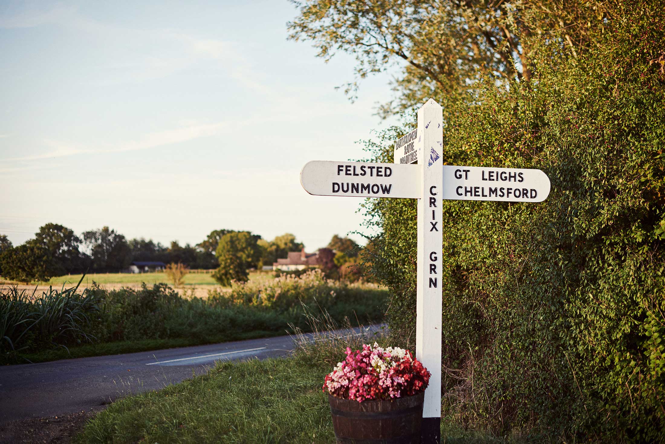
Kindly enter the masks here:
M 418 199 L 416 359 L 432 373 L 422 412 L 423 444 L 441 438 L 441 202 L 542 202 L 550 190 L 541 170 L 444 165 L 442 126 L 443 109 L 429 99 L 418 110 L 418 128 L 395 141 L 392 164 L 313 160 L 300 173 L 309 194 Z

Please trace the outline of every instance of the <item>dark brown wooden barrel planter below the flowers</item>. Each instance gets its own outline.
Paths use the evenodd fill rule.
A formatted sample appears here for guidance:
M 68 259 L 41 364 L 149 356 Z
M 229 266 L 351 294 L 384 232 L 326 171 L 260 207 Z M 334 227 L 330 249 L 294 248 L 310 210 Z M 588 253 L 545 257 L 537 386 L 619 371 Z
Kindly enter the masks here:
M 392 401 L 353 401 L 328 395 L 338 444 L 418 444 L 425 393 Z

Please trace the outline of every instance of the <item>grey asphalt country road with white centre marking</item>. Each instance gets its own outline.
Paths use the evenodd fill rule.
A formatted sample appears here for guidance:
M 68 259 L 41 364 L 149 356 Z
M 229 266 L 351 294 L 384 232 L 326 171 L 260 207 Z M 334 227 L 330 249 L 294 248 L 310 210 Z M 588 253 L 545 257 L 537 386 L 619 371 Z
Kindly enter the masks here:
M 0 367 L 0 424 L 66 415 L 205 373 L 219 359 L 283 356 L 289 336 Z

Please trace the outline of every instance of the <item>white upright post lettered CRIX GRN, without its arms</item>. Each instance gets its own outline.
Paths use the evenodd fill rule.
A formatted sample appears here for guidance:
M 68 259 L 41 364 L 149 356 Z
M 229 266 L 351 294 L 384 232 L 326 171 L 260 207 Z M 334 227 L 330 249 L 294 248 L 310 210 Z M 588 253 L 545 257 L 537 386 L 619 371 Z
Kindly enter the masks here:
M 432 373 L 425 391 L 421 442 L 440 442 L 442 322 L 442 145 L 443 109 L 428 100 L 418 110 L 418 269 L 416 359 Z

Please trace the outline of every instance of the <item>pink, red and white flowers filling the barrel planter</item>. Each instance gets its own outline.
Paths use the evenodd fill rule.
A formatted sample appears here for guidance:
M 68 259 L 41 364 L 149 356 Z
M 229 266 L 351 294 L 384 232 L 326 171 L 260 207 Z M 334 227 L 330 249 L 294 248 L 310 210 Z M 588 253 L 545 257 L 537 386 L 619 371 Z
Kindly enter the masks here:
M 430 372 L 399 347 L 364 344 L 362 351 L 346 347 L 346 359 L 338 363 L 323 383 L 323 391 L 358 402 L 411 396 L 426 389 Z

